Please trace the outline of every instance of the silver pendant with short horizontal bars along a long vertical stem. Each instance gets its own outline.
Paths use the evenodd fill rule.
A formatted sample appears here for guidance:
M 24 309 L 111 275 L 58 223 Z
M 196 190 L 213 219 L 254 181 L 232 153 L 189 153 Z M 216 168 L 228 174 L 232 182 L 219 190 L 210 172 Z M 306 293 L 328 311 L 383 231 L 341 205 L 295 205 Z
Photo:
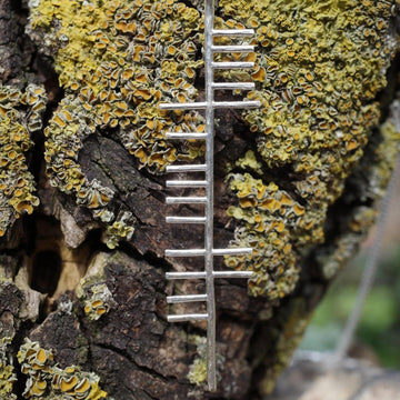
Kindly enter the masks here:
M 204 216 L 201 217 L 167 217 L 168 223 L 201 223 L 204 224 L 204 248 L 166 250 L 166 257 L 203 257 L 204 271 L 199 272 L 167 272 L 167 279 L 204 279 L 204 294 L 169 296 L 169 303 L 207 302 L 207 313 L 188 313 L 168 316 L 169 322 L 207 321 L 207 368 L 208 386 L 210 391 L 217 390 L 216 371 L 216 297 L 214 279 L 218 278 L 250 278 L 251 271 L 214 271 L 214 256 L 242 256 L 251 254 L 251 248 L 213 248 L 213 134 L 216 109 L 244 109 L 258 108 L 259 101 L 214 101 L 214 90 L 251 90 L 253 82 L 214 82 L 217 69 L 242 69 L 253 68 L 253 62 L 214 62 L 214 53 L 251 52 L 253 46 L 214 46 L 216 37 L 250 37 L 252 29 L 217 30 L 214 24 L 214 0 L 206 0 L 204 10 L 204 74 L 206 74 L 206 101 L 191 103 L 160 103 L 161 110 L 204 110 L 206 132 L 167 132 L 167 139 L 188 140 L 198 139 L 206 141 L 206 162 L 200 164 L 168 166 L 167 172 L 204 172 L 204 180 L 168 180 L 168 188 L 204 188 L 206 196 L 193 197 L 168 197 L 168 204 L 204 204 Z

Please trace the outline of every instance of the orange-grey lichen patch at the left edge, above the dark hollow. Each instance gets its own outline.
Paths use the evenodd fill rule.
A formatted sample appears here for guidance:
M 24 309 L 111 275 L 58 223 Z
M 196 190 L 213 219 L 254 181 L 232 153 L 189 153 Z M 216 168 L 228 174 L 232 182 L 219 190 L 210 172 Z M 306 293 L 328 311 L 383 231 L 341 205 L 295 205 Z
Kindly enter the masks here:
M 31 134 L 42 128 L 46 103 L 42 87 L 29 84 L 21 92 L 0 86 L 0 237 L 14 219 L 39 204 L 26 153 L 33 144 Z

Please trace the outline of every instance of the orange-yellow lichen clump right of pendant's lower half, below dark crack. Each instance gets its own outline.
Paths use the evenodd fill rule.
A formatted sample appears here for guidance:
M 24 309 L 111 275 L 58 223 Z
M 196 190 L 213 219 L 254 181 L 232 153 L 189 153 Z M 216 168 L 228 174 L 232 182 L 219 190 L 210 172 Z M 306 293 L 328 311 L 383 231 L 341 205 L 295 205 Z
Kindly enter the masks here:
M 242 269 L 251 266 L 254 276 L 249 281 L 253 294 L 270 299 L 290 293 L 299 277 L 299 266 L 292 250 L 292 238 L 321 234 L 308 227 L 299 210 L 302 206 L 279 190 L 274 183 L 263 184 L 249 173 L 230 174 L 230 189 L 240 199 L 240 207 L 231 206 L 228 214 L 246 223 L 248 233 L 239 230 L 232 246 L 252 247 L 251 257 L 227 257 L 226 264 Z M 297 212 L 294 212 L 297 209 Z

